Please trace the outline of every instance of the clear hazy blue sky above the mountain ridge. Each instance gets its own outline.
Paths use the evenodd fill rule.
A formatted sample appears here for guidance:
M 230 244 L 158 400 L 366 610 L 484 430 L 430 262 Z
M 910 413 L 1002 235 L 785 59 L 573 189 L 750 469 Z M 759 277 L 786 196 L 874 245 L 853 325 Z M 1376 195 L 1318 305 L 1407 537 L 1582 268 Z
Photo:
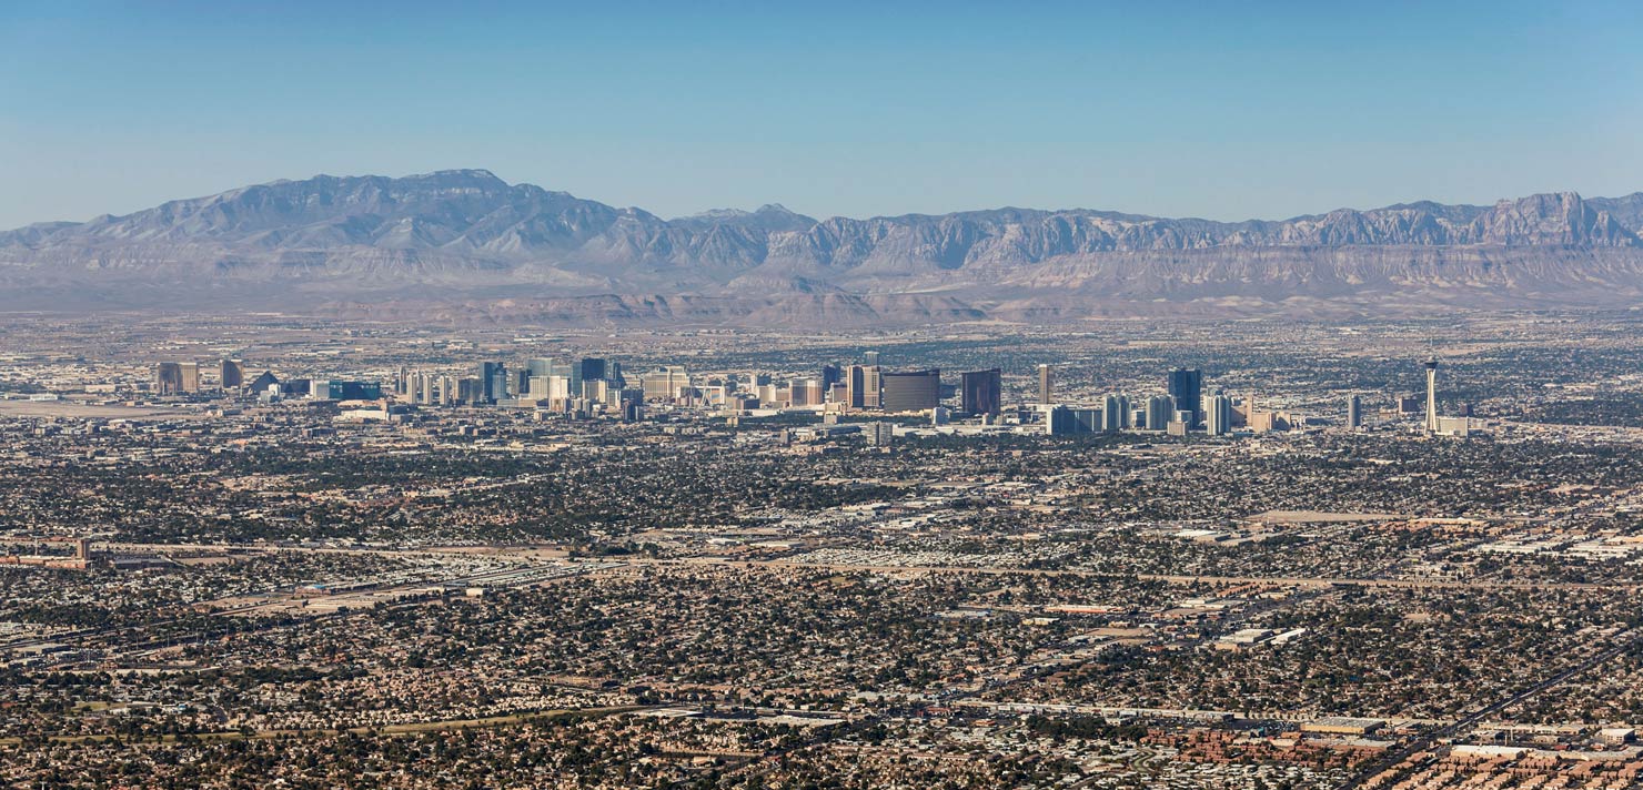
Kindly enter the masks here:
M 452 168 L 662 215 L 1617 195 L 1640 39 L 1636 0 L 8 0 L 0 228 Z

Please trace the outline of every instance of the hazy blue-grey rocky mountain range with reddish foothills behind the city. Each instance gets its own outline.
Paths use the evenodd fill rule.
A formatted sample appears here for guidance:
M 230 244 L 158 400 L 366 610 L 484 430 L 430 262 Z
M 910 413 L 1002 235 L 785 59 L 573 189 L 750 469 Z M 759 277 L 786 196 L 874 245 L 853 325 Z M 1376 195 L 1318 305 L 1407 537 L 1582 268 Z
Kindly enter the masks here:
M 1636 307 L 1643 192 L 1288 220 L 994 209 L 672 220 L 488 171 L 276 181 L 0 232 L 0 309 L 927 324 Z

